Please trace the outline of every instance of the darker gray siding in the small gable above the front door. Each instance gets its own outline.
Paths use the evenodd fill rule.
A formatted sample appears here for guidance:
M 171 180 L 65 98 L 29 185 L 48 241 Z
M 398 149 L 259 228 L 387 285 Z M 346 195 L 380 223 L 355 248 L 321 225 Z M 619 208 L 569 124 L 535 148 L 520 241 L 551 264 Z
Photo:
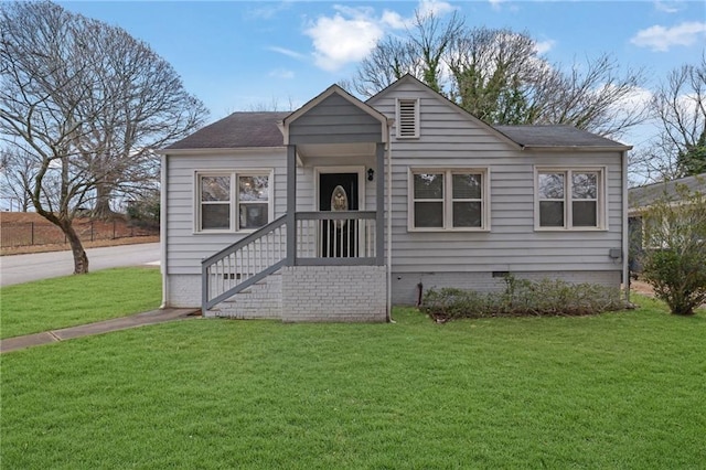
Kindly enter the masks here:
M 331 95 L 289 126 L 289 143 L 379 142 L 382 125 L 339 95 Z

